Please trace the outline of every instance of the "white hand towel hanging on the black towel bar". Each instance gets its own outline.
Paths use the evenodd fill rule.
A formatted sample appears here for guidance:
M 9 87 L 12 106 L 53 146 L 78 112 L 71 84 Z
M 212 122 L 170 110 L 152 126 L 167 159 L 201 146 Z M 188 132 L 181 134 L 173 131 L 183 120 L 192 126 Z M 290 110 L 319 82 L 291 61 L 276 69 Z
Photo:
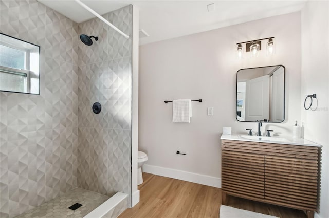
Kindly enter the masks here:
M 191 117 L 191 99 L 173 100 L 173 123 L 189 123 Z

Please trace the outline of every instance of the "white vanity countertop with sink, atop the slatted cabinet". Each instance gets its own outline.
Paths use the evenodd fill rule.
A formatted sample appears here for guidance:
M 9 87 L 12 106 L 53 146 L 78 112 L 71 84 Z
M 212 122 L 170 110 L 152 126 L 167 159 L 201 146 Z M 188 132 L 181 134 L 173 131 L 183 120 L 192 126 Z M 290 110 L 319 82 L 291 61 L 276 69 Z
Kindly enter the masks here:
M 246 135 L 241 135 L 241 134 L 231 134 L 231 135 L 223 135 L 221 136 L 221 139 L 225 140 L 234 140 L 234 141 L 248 141 L 248 142 L 264 142 L 264 143 L 273 143 L 273 144 L 288 144 L 288 145 L 304 145 L 304 146 L 314 146 L 314 147 L 322 147 L 322 145 L 319 145 L 317 143 L 308 141 L 303 138 L 299 139 L 293 139 L 293 138 L 282 138 L 282 137 L 276 137 L 276 136 L 254 136 L 255 138 L 261 138 L 260 139 L 247 139 L 243 137 L 248 137 Z M 276 141 L 276 139 L 278 139 Z M 269 141 L 271 140 L 271 141 Z M 285 140 L 285 141 L 283 141 Z

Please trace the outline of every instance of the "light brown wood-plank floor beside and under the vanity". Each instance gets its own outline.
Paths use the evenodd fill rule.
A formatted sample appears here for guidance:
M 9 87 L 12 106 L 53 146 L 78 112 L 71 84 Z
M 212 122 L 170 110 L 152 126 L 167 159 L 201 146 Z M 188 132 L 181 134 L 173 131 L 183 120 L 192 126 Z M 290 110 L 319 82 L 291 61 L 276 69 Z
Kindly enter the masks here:
M 140 201 L 126 209 L 126 217 L 216 217 L 221 206 L 221 189 L 161 177 L 143 172 L 144 183 L 138 186 Z M 228 197 L 228 206 L 282 218 L 305 218 L 301 210 Z

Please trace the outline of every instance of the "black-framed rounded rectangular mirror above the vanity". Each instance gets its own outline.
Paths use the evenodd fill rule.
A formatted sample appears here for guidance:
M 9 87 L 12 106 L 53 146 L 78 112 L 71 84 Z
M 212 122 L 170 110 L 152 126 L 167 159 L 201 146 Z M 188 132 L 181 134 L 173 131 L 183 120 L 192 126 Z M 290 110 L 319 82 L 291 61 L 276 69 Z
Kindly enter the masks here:
M 285 67 L 240 69 L 236 73 L 236 119 L 281 123 L 285 119 Z

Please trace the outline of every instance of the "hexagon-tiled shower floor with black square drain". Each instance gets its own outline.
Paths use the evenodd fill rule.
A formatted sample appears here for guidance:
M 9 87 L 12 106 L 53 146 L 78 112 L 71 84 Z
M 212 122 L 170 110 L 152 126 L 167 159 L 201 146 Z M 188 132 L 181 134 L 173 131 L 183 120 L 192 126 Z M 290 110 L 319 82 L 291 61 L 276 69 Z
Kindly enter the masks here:
M 84 217 L 96 207 L 104 203 L 110 197 L 82 188 L 75 188 L 62 196 L 56 197 L 48 202 L 41 204 L 27 212 L 16 216 L 16 218 L 41 218 L 41 217 Z M 75 203 L 82 204 L 76 210 L 68 209 Z

